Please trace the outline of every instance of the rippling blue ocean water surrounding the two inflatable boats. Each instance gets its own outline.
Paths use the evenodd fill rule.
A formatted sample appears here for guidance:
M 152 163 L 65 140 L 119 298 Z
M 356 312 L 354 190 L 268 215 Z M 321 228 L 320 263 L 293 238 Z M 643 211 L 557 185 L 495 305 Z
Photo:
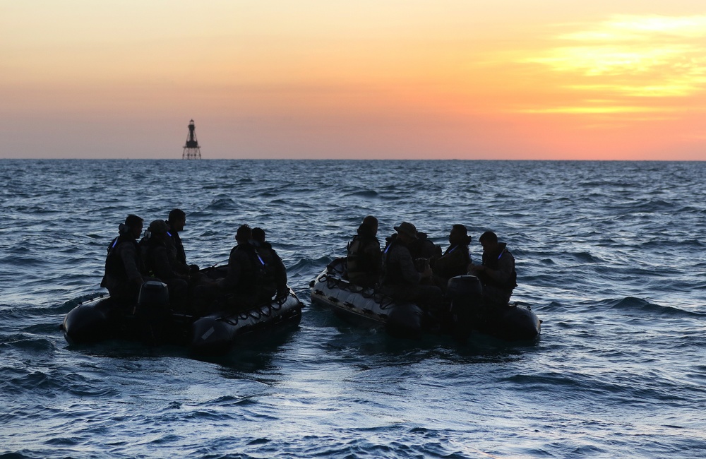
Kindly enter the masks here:
M 0 160 L 0 458 L 706 455 L 706 162 Z M 68 345 L 128 213 L 191 263 L 263 227 L 299 327 L 222 357 Z M 517 260 L 536 342 L 390 338 L 311 306 L 365 215 Z

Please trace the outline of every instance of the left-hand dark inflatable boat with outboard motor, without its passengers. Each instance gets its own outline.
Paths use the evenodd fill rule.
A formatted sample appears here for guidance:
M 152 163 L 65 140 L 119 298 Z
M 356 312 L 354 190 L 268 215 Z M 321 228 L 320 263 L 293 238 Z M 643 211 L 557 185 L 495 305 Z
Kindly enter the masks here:
M 226 268 L 204 271 L 207 277 L 217 278 L 225 276 Z M 302 306 L 289 289 L 286 297 L 249 309 L 197 316 L 172 311 L 167 285 L 149 281 L 143 284 L 138 302 L 133 305 L 116 304 L 107 295 L 78 304 L 66 314 L 61 330 L 70 344 L 124 339 L 153 345 L 187 345 L 199 354 L 222 354 L 256 333 L 277 333 L 296 326 Z

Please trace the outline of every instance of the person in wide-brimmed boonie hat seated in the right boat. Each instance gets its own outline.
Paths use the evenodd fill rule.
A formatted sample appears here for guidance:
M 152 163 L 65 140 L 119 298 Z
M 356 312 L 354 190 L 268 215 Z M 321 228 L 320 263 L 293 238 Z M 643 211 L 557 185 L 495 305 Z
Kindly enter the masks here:
M 383 278 L 381 290 L 384 294 L 400 302 L 414 302 L 429 309 L 441 302 L 442 292 L 435 285 L 422 285 L 421 281 L 431 278 L 431 268 L 426 266 L 423 273 L 414 268 L 409 244 L 417 239 L 417 227 L 402 222 L 394 227 L 397 237 L 383 252 Z

